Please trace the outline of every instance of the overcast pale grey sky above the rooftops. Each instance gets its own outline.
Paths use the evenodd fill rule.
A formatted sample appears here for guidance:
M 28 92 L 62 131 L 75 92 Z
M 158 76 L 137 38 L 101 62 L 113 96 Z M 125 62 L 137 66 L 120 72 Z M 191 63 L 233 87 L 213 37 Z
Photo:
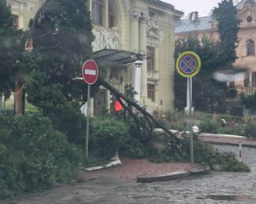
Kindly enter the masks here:
M 211 9 L 218 7 L 221 0 L 162 0 L 166 3 L 171 3 L 177 10 L 184 12 L 184 17 L 187 17 L 192 11 L 198 11 L 199 16 L 210 14 Z

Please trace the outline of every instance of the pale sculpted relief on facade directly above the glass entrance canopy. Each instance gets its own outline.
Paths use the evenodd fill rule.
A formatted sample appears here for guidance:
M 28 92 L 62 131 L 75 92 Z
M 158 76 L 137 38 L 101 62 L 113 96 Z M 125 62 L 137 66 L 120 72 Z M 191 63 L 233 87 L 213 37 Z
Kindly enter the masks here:
M 95 35 L 95 40 L 92 42 L 93 51 L 103 48 L 120 48 L 120 39 L 117 32 L 96 26 L 93 28 L 92 32 Z

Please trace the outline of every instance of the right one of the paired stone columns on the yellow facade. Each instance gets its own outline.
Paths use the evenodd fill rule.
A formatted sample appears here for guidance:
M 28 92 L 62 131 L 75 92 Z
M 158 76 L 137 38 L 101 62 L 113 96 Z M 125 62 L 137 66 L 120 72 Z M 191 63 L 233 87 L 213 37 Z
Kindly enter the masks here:
M 139 24 L 139 50 L 144 51 L 147 54 L 147 25 L 146 19 L 140 18 Z M 147 81 L 148 81 L 148 71 L 147 71 L 147 60 L 143 60 L 142 72 L 141 72 L 141 103 L 144 104 L 144 100 L 148 98 L 147 94 Z

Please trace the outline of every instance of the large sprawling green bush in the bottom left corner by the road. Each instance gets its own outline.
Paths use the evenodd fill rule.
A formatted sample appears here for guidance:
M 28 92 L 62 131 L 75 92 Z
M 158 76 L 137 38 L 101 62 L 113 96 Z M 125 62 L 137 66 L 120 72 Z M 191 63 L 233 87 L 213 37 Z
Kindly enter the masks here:
M 79 150 L 40 113 L 0 116 L 0 144 L 0 199 L 68 182 L 81 161 Z

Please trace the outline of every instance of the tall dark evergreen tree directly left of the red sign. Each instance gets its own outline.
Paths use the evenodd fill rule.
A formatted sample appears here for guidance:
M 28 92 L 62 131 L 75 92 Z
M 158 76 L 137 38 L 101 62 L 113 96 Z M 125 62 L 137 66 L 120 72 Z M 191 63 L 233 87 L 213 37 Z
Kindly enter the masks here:
M 26 80 L 27 100 L 72 142 L 84 137 L 80 105 L 87 100 L 87 85 L 74 78 L 81 76 L 84 61 L 90 59 L 91 30 L 86 1 L 48 0 L 35 15 L 28 36 L 39 60 Z M 97 88 L 98 84 L 92 86 L 92 95 Z

